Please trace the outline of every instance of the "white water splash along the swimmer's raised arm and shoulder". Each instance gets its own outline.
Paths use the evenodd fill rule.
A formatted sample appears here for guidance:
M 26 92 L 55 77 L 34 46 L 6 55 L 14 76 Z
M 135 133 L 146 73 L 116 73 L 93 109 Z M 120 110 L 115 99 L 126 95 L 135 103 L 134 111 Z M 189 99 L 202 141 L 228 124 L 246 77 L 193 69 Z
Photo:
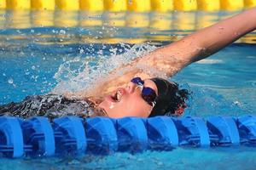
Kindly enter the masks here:
M 93 45 L 93 44 L 92 44 Z M 58 82 L 52 93 L 63 94 L 77 92 L 90 88 L 98 80 L 106 77 L 110 71 L 131 62 L 132 59 L 147 54 L 155 49 L 154 46 L 146 44 L 129 45 L 120 43 L 120 47 L 106 48 L 108 54 L 104 55 L 102 50 L 96 56 L 79 56 L 74 59 L 64 59 L 58 71 L 55 73 L 55 80 Z

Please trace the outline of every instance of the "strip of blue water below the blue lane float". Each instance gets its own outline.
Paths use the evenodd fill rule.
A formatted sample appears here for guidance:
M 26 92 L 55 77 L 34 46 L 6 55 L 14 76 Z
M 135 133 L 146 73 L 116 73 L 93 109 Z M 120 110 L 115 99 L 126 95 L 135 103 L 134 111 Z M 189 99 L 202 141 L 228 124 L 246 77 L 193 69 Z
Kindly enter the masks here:
M 254 169 L 254 148 L 186 149 L 79 158 L 1 159 L 1 169 Z

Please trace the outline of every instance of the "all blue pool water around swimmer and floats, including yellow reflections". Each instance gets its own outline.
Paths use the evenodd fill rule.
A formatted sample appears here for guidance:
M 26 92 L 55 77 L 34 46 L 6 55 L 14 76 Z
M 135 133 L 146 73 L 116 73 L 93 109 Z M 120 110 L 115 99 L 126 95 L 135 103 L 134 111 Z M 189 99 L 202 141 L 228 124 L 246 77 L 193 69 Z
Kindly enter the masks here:
M 84 19 L 83 14 L 71 13 L 65 20 L 68 23 L 77 22 L 73 26 L 63 27 L 60 24 L 41 27 L 35 26 L 32 22 L 32 19 L 37 18 L 39 14 L 4 13 L 2 14 L 5 20 L 4 27 L 0 31 L 0 104 L 12 100 L 20 101 L 26 95 L 45 94 L 53 88 L 57 92 L 62 92 L 64 89 L 84 88 L 90 85 L 90 81 L 81 80 L 81 78 L 93 78 L 99 73 L 104 75 L 104 72 L 109 71 L 108 62 L 111 59 L 116 59 L 118 63 L 125 63 L 133 57 L 132 55 L 142 54 L 154 49 L 154 45 L 160 46 L 166 42 L 175 41 L 198 29 L 201 27 L 199 20 L 205 15 L 212 23 L 230 14 L 199 12 L 163 14 L 157 17 L 166 19 L 169 25 L 165 23 L 160 26 L 166 27 L 159 27 L 152 21 L 156 15 L 154 13 L 139 14 L 143 22 L 136 24 L 137 20 L 135 20 L 127 26 L 120 23 L 122 20 L 132 21 L 131 19 L 134 19 L 132 14 L 130 16 L 110 13 L 92 14 L 93 17 L 90 16 L 90 19 L 92 17 L 96 23 L 103 20 L 104 23 L 98 26 L 82 26 L 78 23 L 83 23 L 82 21 L 87 18 Z M 14 16 L 20 17 L 20 23 L 15 25 L 15 21 L 12 20 Z M 79 20 L 74 20 L 74 17 L 77 19 L 78 16 Z M 88 17 L 88 14 L 85 16 Z M 114 22 L 110 16 L 113 17 Z M 194 20 L 182 20 L 188 16 L 189 19 Z M 26 23 L 27 18 L 32 21 Z M 60 19 L 62 22 L 65 20 Z M 120 25 L 116 26 L 117 23 Z M 126 43 L 117 43 L 119 41 Z M 256 63 L 256 45 L 252 43 L 255 42 L 255 33 L 249 34 L 238 42 L 240 43 L 224 48 L 211 58 L 190 65 L 172 78 L 193 92 L 186 115 L 255 114 L 256 71 L 253 67 Z M 111 57 L 116 54 L 119 56 Z M 106 65 L 101 64 L 103 61 Z M 85 73 L 81 73 L 84 69 Z M 0 161 L 4 169 L 14 167 L 20 169 L 49 167 L 53 169 L 137 169 L 138 164 L 143 164 L 142 169 L 188 167 L 191 169 L 199 167 L 253 169 L 255 155 L 255 149 L 247 147 L 207 150 L 177 148 L 169 152 L 146 151 L 136 155 L 116 153 L 104 157 L 1 159 Z

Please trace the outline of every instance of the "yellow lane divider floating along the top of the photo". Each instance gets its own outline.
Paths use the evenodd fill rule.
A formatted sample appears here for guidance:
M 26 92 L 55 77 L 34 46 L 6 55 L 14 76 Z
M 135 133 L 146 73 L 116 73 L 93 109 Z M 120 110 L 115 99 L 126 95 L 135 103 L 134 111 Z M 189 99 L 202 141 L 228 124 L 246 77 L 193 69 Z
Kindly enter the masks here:
M 256 0 L 0 0 L 0 8 L 67 11 L 234 11 L 255 6 Z

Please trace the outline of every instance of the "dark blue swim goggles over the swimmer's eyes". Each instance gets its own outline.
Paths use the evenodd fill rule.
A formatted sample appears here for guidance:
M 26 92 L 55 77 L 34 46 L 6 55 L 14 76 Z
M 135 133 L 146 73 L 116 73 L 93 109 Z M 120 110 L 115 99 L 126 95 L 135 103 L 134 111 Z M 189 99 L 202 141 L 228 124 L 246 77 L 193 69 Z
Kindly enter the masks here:
M 148 105 L 151 105 L 154 107 L 156 104 L 156 93 L 154 89 L 143 87 L 144 81 L 140 77 L 134 77 L 131 79 L 131 82 L 138 85 L 139 88 L 142 89 L 142 97 L 143 99 L 148 103 Z

